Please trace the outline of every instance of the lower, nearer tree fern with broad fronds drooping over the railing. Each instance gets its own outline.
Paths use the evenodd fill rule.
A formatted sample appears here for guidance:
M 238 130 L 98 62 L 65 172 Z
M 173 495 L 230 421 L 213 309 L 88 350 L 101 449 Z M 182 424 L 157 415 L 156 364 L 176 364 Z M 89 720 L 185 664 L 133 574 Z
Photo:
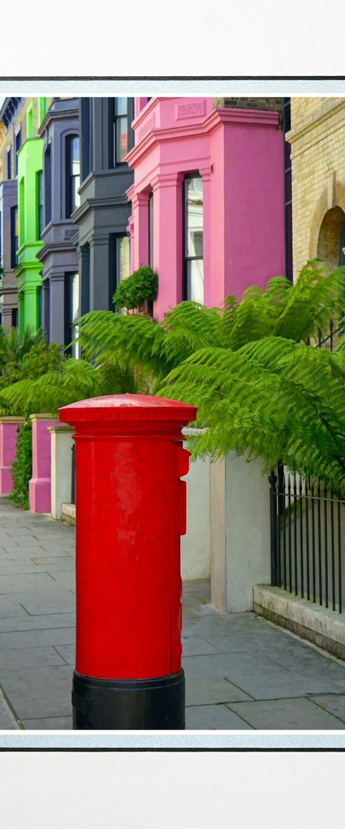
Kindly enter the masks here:
M 345 485 L 344 357 L 282 337 L 238 351 L 208 348 L 170 372 L 160 395 L 198 407 L 194 455 L 230 449 L 262 456 L 266 470 L 282 460 L 304 474 Z

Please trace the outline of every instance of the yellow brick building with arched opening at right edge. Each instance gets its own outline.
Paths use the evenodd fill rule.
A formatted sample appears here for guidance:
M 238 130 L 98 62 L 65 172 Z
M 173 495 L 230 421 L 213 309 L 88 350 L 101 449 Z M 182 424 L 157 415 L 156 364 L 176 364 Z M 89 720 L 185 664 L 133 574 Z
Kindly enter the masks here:
M 345 99 L 292 98 L 294 279 L 308 259 L 344 264 Z

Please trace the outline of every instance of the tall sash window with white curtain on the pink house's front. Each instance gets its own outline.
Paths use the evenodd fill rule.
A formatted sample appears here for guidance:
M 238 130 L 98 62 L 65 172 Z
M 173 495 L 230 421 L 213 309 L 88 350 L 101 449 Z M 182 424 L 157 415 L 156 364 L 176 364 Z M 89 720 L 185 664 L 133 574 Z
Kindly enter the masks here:
M 184 179 L 184 299 L 197 303 L 204 303 L 203 234 L 203 180 L 195 174 Z

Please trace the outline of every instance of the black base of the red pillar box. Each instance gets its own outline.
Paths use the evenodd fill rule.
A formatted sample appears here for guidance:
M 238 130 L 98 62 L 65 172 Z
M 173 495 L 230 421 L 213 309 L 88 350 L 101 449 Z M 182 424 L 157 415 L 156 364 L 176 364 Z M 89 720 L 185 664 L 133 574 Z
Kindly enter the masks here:
M 72 705 L 74 730 L 184 730 L 184 671 L 143 680 L 74 671 Z

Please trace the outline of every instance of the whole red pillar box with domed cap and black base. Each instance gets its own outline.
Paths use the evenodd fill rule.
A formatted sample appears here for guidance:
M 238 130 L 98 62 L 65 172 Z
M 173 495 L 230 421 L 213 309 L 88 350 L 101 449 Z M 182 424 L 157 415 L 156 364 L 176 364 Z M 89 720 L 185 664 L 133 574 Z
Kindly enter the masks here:
M 74 729 L 184 729 L 180 535 L 194 406 L 109 395 L 59 410 L 75 429 Z

